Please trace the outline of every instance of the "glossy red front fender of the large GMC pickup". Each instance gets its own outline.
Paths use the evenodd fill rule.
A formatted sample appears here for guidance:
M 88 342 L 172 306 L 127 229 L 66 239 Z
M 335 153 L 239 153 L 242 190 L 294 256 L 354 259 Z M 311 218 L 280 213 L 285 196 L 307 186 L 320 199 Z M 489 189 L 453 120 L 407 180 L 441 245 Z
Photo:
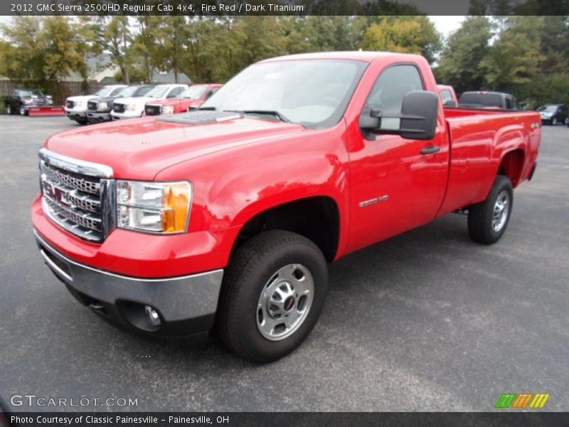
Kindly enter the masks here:
M 190 233 L 240 229 L 276 206 L 314 196 L 329 197 L 340 213 L 337 253 L 341 253 L 349 229 L 346 125 L 341 120 L 329 129 L 310 132 L 309 144 L 304 132 L 262 140 L 176 164 L 156 179 L 184 176 L 193 183 Z

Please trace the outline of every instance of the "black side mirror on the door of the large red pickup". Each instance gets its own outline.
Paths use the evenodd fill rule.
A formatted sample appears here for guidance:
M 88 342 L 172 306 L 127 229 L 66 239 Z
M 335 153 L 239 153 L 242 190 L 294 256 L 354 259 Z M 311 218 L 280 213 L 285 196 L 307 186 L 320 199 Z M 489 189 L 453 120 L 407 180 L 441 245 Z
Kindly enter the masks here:
M 359 125 L 363 137 L 400 135 L 405 139 L 433 139 L 437 130 L 439 97 L 425 90 L 409 92 L 403 98 L 400 112 L 364 109 Z

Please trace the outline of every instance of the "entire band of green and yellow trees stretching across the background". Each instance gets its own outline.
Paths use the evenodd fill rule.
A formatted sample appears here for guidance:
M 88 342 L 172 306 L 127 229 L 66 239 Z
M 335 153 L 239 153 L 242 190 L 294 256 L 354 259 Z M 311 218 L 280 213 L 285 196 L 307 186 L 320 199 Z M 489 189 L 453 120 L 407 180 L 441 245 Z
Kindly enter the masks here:
M 223 83 L 272 56 L 361 48 L 419 53 L 435 64 L 437 80 L 457 93 L 502 90 L 533 105 L 569 103 L 568 16 L 469 16 L 442 45 L 430 19 L 416 15 L 414 6 L 391 0 L 311 5 L 315 11 L 338 6 L 346 15 L 16 16 L 0 26 L 0 74 L 44 86 L 72 71 L 87 78 L 86 54 L 108 53 L 125 83 L 151 81 L 155 70 Z M 522 6 L 533 8 L 536 1 Z M 506 14 L 511 1 L 472 0 L 470 7 Z

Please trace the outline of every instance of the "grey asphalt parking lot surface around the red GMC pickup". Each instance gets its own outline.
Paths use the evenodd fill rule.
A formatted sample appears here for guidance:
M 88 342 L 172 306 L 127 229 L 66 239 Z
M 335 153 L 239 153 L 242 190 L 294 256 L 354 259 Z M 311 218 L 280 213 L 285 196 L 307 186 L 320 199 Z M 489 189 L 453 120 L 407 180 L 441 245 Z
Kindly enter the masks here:
M 0 393 L 137 399 L 71 410 L 490 411 L 502 393 L 569 411 L 569 128 L 544 127 L 533 181 L 494 246 L 449 215 L 330 266 L 312 335 L 267 365 L 220 342 L 149 343 L 107 325 L 43 265 L 36 150 L 78 127 L 0 117 Z M 28 407 L 19 411 L 62 408 Z

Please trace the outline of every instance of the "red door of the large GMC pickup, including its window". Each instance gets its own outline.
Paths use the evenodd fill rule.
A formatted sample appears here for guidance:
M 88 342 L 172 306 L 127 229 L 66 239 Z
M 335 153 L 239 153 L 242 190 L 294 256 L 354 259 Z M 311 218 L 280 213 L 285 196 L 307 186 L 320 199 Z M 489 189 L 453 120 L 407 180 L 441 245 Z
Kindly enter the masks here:
M 369 114 L 371 109 L 400 112 L 403 97 L 412 90 L 425 90 L 418 68 L 391 65 L 378 76 L 361 114 Z M 398 129 L 399 119 L 388 120 L 382 127 Z M 376 135 L 375 140 L 368 140 L 361 132 L 355 137 L 358 140 L 353 146 L 359 149 L 350 153 L 349 251 L 435 218 L 445 194 L 448 167 L 442 115 L 430 141 L 399 135 Z

